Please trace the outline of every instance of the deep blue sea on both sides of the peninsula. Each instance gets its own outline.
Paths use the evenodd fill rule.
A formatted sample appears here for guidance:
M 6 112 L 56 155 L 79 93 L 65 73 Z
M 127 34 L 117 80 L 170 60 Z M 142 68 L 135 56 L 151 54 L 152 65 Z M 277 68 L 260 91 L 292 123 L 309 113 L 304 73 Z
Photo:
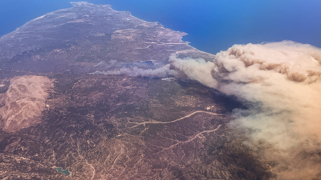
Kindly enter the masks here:
M 70 0 L 0 0 L 0 36 Z M 321 47 L 320 0 L 88 0 L 188 33 L 184 41 L 217 53 L 234 44 L 292 40 Z

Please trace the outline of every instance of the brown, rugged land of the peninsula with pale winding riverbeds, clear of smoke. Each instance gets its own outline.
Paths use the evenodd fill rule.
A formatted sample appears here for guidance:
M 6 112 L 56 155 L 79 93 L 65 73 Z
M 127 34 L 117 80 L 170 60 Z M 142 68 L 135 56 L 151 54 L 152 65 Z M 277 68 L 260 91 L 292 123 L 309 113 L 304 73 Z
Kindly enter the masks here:
M 0 39 L 0 179 L 277 176 L 275 162 L 227 126 L 231 110 L 246 107 L 152 71 L 168 67 L 173 53 L 205 61 L 213 54 L 129 12 L 72 4 Z

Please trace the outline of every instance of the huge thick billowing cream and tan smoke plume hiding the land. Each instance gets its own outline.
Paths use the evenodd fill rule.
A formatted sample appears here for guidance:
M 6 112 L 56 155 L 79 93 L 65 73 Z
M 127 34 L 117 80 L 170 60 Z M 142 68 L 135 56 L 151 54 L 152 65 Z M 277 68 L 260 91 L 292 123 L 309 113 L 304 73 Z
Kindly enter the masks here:
M 265 148 L 284 179 L 320 177 L 321 49 L 292 41 L 233 45 L 203 59 L 169 58 L 178 77 L 235 95 L 230 126 L 247 130 L 250 146 Z

